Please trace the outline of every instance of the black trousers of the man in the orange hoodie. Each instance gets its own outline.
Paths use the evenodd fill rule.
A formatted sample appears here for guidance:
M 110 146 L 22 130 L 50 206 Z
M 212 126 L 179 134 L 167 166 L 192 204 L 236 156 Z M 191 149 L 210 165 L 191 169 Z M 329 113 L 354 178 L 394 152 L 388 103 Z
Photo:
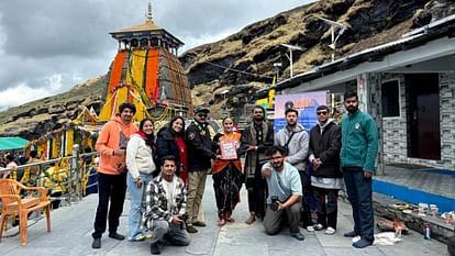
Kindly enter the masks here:
M 93 238 L 101 237 L 106 231 L 109 211 L 109 233 L 115 233 L 123 211 L 126 192 L 126 172 L 106 175 L 98 172 L 98 208 L 95 218 Z

